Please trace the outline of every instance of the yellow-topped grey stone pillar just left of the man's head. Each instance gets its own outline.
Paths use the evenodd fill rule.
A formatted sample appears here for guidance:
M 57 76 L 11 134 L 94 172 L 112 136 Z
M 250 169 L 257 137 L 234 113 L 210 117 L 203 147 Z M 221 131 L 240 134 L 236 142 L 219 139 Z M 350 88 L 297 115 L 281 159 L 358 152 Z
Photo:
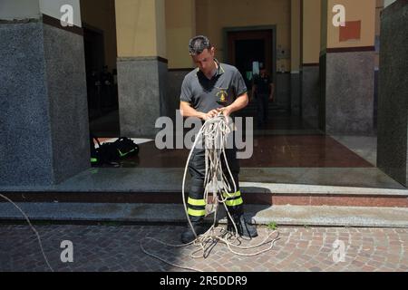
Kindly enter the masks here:
M 121 135 L 154 137 L 169 114 L 164 0 L 116 0 Z

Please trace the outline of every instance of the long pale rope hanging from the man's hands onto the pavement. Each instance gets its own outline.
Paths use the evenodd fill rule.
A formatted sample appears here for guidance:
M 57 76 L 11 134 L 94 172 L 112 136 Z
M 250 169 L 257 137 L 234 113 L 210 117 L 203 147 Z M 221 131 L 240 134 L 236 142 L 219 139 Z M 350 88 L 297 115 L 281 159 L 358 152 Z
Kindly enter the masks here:
M 231 123 L 231 125 L 233 124 Z M 168 246 L 168 247 L 187 247 L 189 245 L 199 247 L 198 250 L 195 250 L 191 253 L 190 256 L 192 258 L 202 258 L 202 257 L 209 256 L 209 252 L 219 242 L 222 244 L 225 244 L 228 247 L 228 250 L 237 256 L 257 256 L 257 255 L 260 255 L 262 253 L 269 251 L 270 249 L 272 249 L 272 247 L 274 247 L 274 244 L 279 237 L 279 232 L 277 232 L 276 230 L 271 231 L 269 233 L 267 232 L 265 239 L 255 246 L 248 246 L 248 247 L 239 246 L 241 245 L 242 243 L 241 239 L 243 238 L 239 237 L 237 225 L 234 221 L 234 218 L 231 217 L 231 214 L 229 213 L 228 207 L 226 205 L 227 199 L 233 197 L 234 194 L 237 192 L 237 185 L 235 184 L 235 180 L 233 178 L 231 170 L 229 169 L 228 160 L 227 160 L 227 156 L 225 152 L 225 148 L 226 148 L 227 140 L 228 140 L 228 134 L 230 132 L 231 132 L 231 128 L 228 125 L 227 117 L 224 116 L 222 113 L 220 113 L 218 116 L 212 119 L 209 119 L 208 121 L 205 121 L 204 125 L 201 127 L 201 129 L 199 130 L 199 133 L 196 136 L 196 140 L 194 141 L 194 144 L 191 150 L 189 151 L 189 157 L 187 159 L 186 167 L 184 169 L 181 194 L 182 194 L 185 214 L 189 222 L 189 227 L 194 233 L 194 236 L 196 237 L 196 239 L 193 242 L 189 244 L 185 244 L 185 245 L 173 245 L 173 244 L 162 242 L 159 239 L 156 239 L 153 237 L 145 237 L 145 239 L 156 241 L 157 243 L 160 243 L 161 245 Z M 189 219 L 189 213 L 188 213 L 188 208 L 187 208 L 186 198 L 185 198 L 185 183 L 186 183 L 187 171 L 189 168 L 189 160 L 191 159 L 194 149 L 197 148 L 197 145 L 199 144 L 199 142 L 200 144 L 202 144 L 203 140 L 204 140 L 204 146 L 205 146 L 205 169 L 206 169 L 205 179 L 204 179 L 204 200 L 206 202 L 206 216 L 208 216 L 209 214 L 213 212 L 214 221 L 213 221 L 212 226 L 209 227 L 209 230 L 206 233 L 198 236 L 194 230 L 194 227 L 192 226 L 191 220 Z M 222 168 L 221 155 L 223 156 L 225 160 L 225 164 L 228 170 L 228 177 L 229 177 L 229 180 L 232 180 L 232 183 L 233 183 L 232 185 L 229 184 L 228 178 L 224 173 L 224 169 Z M 230 193 L 231 191 L 233 193 Z M 209 193 L 212 193 L 212 200 L 210 202 L 211 204 L 210 210 L 209 210 Z M 232 222 L 232 225 L 235 229 L 235 235 L 228 233 L 227 231 L 225 231 L 224 229 L 220 227 L 216 227 L 217 213 L 218 213 L 220 203 L 224 206 L 226 213 L 228 215 L 228 218 Z M 217 231 L 219 231 L 219 233 L 217 233 Z M 277 233 L 276 237 L 274 237 L 273 239 L 270 239 L 272 235 L 275 233 Z M 241 253 L 238 251 L 238 250 L 254 249 L 254 248 L 269 244 L 269 243 L 270 243 L 269 247 L 267 247 L 266 249 L 257 251 L 256 253 L 246 254 L 246 253 Z M 161 258 L 160 256 L 151 254 L 150 252 L 146 251 L 142 247 L 142 240 L 141 240 L 141 249 L 145 254 L 152 256 L 154 258 L 157 258 L 160 261 L 166 264 L 169 264 L 170 266 L 176 266 L 179 268 L 200 272 L 200 270 L 198 269 L 194 269 L 194 268 L 190 268 L 186 266 L 179 266 L 179 265 L 176 265 L 174 263 L 171 263 L 165 260 L 164 258 Z M 201 252 L 202 254 L 197 256 L 196 254 L 199 252 Z

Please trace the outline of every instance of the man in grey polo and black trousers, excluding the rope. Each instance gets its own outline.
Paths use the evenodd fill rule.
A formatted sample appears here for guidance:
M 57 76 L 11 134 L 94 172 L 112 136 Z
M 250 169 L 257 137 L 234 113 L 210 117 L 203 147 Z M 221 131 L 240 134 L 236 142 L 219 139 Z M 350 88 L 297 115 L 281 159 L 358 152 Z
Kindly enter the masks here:
M 202 121 L 207 121 L 219 113 L 223 113 L 226 117 L 234 117 L 234 112 L 248 105 L 248 90 L 242 75 L 236 67 L 219 63 L 214 58 L 214 53 L 215 48 L 206 36 L 199 35 L 189 41 L 189 54 L 196 63 L 197 69 L 186 75 L 181 86 L 180 111 L 183 117 L 196 117 Z M 195 149 L 189 162 L 191 187 L 188 214 L 197 235 L 202 235 L 209 229 L 209 225 L 206 225 L 203 220 L 206 214 L 206 202 L 203 199 L 204 157 L 204 149 Z M 237 191 L 229 193 L 232 196 L 228 198 L 226 205 L 237 225 L 238 234 L 244 237 L 257 237 L 256 227 L 248 224 L 244 218 L 244 201 L 239 190 L 239 163 L 235 146 L 226 150 L 226 157 L 237 185 Z M 223 157 L 221 159 L 224 160 Z M 225 168 L 224 165 L 223 169 Z M 229 178 L 229 174 L 226 176 Z M 233 188 L 232 180 L 228 182 Z M 235 231 L 229 218 L 227 229 L 231 232 Z M 188 225 L 186 231 L 181 235 L 182 243 L 188 244 L 195 238 Z

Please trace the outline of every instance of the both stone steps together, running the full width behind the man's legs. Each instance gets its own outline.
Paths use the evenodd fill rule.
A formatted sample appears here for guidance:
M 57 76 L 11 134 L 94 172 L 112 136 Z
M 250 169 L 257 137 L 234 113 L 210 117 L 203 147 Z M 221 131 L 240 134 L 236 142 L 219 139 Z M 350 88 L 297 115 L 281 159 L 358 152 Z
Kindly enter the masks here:
M 93 171 L 92 171 L 93 170 Z M 182 223 L 180 169 L 139 169 L 123 177 L 110 171 L 111 180 L 91 169 L 59 186 L 8 188 L 29 218 L 63 223 Z M 176 170 L 176 171 L 174 171 Z M 102 170 L 104 171 L 104 170 Z M 142 173 L 142 171 L 145 171 Z M 105 172 L 106 173 L 106 172 Z M 99 174 L 99 176 L 98 176 Z M 115 175 L 119 174 L 119 175 Z M 172 175 L 173 174 L 173 175 Z M 121 178 L 118 178 L 121 176 Z M 179 177 L 179 178 L 176 178 Z M 104 180 L 104 181 L 102 181 Z M 241 182 L 248 218 L 257 224 L 330 227 L 408 227 L 408 190 L 347 188 Z M 0 198 L 1 199 L 1 198 Z M 220 223 L 225 214 L 219 213 Z M 24 222 L 10 203 L 1 199 L 0 221 Z

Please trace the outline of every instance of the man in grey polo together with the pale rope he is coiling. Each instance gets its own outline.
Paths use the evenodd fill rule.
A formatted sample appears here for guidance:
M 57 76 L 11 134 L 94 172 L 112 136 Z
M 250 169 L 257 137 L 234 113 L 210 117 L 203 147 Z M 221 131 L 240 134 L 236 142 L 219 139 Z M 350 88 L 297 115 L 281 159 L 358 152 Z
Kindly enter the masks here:
M 183 117 L 199 118 L 205 123 L 196 136 L 184 170 L 182 195 L 188 218 L 188 227 L 181 235 L 181 242 L 184 245 L 170 245 L 151 237 L 147 239 L 173 247 L 193 244 L 199 249 L 191 254 L 192 257 L 208 256 L 218 242 L 227 245 L 232 253 L 239 256 L 255 256 L 272 248 L 277 237 L 268 242 L 269 237 L 274 233 L 271 232 L 258 245 L 240 246 L 241 237 L 249 239 L 257 237 L 257 228 L 248 224 L 244 218 L 236 146 L 233 144 L 231 149 L 225 148 L 228 134 L 233 133 L 228 127 L 228 117 L 248 105 L 248 89 L 238 69 L 226 63 L 219 63 L 214 53 L 215 48 L 206 36 L 199 35 L 189 41 L 189 54 L 198 68 L 184 78 L 180 94 L 180 112 Z M 204 149 L 198 148 L 199 144 L 203 144 Z M 186 204 L 184 185 L 187 171 L 191 181 Z M 210 193 L 212 194 L 211 210 L 208 207 Z M 219 203 L 222 203 L 227 212 L 227 230 L 216 227 Z M 204 221 L 209 212 L 214 212 L 212 226 Z M 255 254 L 238 252 L 238 250 L 248 250 L 267 243 L 270 243 L 270 247 Z M 150 256 L 177 266 L 160 256 L 148 253 L 142 245 L 141 249 Z M 199 252 L 202 252 L 201 255 L 196 255 Z

